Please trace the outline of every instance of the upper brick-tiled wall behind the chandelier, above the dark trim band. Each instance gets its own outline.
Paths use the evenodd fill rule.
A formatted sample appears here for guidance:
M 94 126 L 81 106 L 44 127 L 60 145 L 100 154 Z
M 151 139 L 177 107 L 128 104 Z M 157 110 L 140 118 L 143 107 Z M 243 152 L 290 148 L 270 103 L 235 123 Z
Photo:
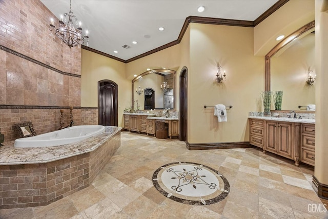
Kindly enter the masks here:
M 51 35 L 51 17 L 56 16 L 39 0 L 0 1 L 0 45 L 60 71 L 80 75 L 81 51 L 62 45 L 54 33 Z M 0 68 L 4 68 L 3 63 Z

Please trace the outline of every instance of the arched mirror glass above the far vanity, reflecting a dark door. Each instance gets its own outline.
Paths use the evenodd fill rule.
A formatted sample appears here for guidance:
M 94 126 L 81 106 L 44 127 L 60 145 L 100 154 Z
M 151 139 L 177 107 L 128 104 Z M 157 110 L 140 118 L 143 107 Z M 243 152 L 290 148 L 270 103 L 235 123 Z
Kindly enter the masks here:
M 168 87 L 165 89 L 164 84 Z M 171 109 L 176 110 L 176 71 L 170 69 L 152 69 L 132 80 L 132 104 L 134 109 Z M 136 89 L 139 89 L 136 92 Z

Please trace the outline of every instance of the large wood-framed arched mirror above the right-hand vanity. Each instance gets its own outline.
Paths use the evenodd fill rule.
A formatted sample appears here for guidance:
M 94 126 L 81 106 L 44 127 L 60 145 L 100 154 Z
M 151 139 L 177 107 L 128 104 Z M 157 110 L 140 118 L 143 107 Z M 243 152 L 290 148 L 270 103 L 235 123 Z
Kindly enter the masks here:
M 315 104 L 315 82 L 306 83 L 309 72 L 315 75 L 314 29 L 314 21 L 304 25 L 265 56 L 265 90 L 283 91 L 281 110 Z

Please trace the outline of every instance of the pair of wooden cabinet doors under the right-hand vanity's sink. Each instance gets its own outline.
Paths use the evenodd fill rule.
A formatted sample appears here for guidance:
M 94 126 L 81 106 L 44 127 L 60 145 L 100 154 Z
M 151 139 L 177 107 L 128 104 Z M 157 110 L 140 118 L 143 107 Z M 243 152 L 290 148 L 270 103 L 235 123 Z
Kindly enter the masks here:
M 293 123 L 265 121 L 264 150 L 294 160 Z

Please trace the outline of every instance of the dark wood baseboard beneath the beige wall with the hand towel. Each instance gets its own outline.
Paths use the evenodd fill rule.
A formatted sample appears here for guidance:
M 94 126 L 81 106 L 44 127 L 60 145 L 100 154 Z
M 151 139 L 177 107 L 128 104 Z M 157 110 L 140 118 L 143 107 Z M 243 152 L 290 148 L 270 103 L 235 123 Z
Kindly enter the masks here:
M 222 142 L 222 143 L 195 143 L 187 142 L 188 150 L 211 150 L 211 149 L 232 149 L 232 148 L 253 148 L 250 142 Z

